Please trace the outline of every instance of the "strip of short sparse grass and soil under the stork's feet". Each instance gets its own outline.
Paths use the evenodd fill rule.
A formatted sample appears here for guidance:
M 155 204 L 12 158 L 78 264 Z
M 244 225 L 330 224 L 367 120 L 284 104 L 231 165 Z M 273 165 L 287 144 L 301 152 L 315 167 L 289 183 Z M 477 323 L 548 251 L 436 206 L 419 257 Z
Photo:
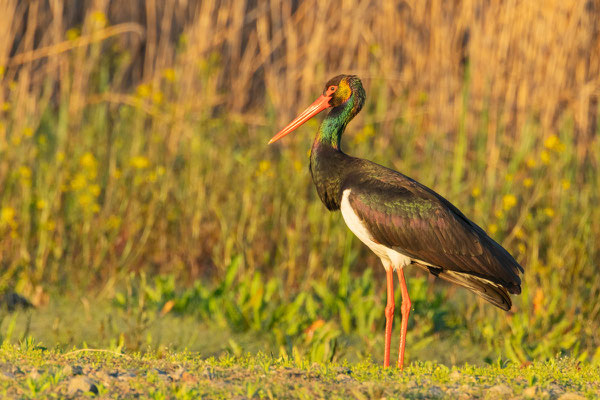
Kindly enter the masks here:
M 579 399 L 600 395 L 600 369 L 569 358 L 452 368 L 421 362 L 400 372 L 370 360 L 321 364 L 265 354 L 202 358 L 168 350 L 60 351 L 25 341 L 0 348 L 0 374 L 0 394 L 19 398 L 81 395 L 69 391 L 72 381 L 81 376 L 89 379 L 89 389 L 104 398 L 552 399 L 569 393 L 583 396 L 569 397 Z

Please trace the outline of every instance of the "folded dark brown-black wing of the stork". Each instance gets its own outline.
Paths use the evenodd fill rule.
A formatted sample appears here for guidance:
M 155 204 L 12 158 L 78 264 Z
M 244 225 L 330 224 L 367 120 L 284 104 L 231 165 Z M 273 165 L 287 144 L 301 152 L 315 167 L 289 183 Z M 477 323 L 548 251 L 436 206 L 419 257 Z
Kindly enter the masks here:
M 491 291 L 521 292 L 523 268 L 479 226 L 418 182 L 388 169 L 377 172 L 350 177 L 343 188 L 350 189 L 350 205 L 373 240 L 476 292 L 473 286 L 486 281 Z

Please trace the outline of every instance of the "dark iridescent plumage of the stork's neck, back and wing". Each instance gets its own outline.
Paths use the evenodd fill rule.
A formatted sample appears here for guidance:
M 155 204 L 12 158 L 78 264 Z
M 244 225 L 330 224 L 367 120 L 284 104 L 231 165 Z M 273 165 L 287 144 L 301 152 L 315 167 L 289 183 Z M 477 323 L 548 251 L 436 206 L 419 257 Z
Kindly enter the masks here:
M 339 84 L 338 79 L 327 87 Z M 350 189 L 350 205 L 375 242 L 410 257 L 441 279 L 510 309 L 508 293 L 521 292 L 523 268 L 502 246 L 428 187 L 341 150 L 343 130 L 365 98 L 357 79 L 349 77 L 352 94 L 332 109 L 312 147 L 310 170 L 323 204 L 330 211 L 338 210 L 344 191 Z

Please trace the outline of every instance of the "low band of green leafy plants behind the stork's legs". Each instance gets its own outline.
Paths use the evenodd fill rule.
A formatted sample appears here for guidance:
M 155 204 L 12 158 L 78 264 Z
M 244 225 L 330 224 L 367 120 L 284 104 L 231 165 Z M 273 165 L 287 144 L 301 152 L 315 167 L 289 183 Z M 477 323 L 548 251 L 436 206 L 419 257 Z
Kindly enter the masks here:
M 343 270 L 339 279 L 314 281 L 299 291 L 259 272 L 240 276 L 240 268 L 236 259 L 218 285 L 196 281 L 187 289 L 172 275 L 132 274 L 110 298 L 55 296 L 40 309 L 3 311 L 0 340 L 19 343 L 32 337 L 60 349 L 188 349 L 203 357 L 262 351 L 311 362 L 381 362 L 386 298 L 371 270 L 359 277 Z M 460 306 L 472 295 L 436 284 L 422 277 L 408 280 L 413 303 L 408 362 L 482 365 L 498 358 L 523 363 L 571 355 L 598 363 L 598 353 L 582 351 L 581 329 L 568 321 L 553 320 L 552 314 L 535 320 L 506 317 L 478 300 L 470 312 L 481 309 L 487 318 L 473 325 Z M 494 330 L 495 319 L 505 319 L 509 328 Z M 399 320 L 398 315 L 396 327 Z M 397 340 L 394 335 L 394 347 Z

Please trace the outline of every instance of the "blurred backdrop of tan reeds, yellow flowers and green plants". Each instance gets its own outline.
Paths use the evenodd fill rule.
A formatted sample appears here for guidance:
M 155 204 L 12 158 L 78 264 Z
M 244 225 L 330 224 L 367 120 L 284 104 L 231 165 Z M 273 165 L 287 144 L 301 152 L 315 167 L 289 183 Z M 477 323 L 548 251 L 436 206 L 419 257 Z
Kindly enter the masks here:
M 410 271 L 409 347 L 454 332 L 600 362 L 595 3 L 0 9 L 0 290 L 109 299 L 142 327 L 168 303 L 316 360 L 354 332 L 379 354 L 383 270 L 312 187 L 317 121 L 266 146 L 356 73 L 345 150 L 448 197 L 525 267 L 509 314 Z

